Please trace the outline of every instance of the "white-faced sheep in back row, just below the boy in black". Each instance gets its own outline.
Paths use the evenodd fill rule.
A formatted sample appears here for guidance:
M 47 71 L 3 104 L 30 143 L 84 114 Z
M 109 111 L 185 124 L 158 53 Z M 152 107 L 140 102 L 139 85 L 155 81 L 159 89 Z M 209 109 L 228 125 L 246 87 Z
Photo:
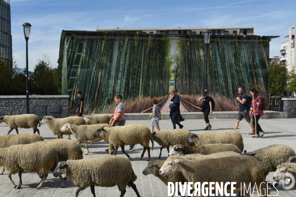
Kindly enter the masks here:
M 48 128 L 52 131 L 52 134 L 57 135 L 58 139 L 63 139 L 63 134 L 68 135 L 68 139 L 70 138 L 71 132 L 64 132 L 60 131 L 61 127 L 66 123 L 74 124 L 74 125 L 86 125 L 85 120 L 81 117 L 67 117 L 67 118 L 54 118 L 52 116 L 44 116 L 41 120 L 41 124 L 47 124 Z

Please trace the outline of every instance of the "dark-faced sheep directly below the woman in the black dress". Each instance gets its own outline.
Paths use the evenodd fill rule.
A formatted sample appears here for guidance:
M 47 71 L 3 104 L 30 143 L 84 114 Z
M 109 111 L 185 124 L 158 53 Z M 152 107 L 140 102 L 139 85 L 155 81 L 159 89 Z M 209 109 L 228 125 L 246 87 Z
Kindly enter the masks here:
M 164 130 L 164 131 L 154 131 L 151 133 L 153 141 L 156 141 L 160 147 L 160 153 L 158 158 L 161 158 L 161 151 L 164 147 L 167 148 L 168 153 L 170 152 L 169 147 L 176 144 L 182 144 L 186 146 L 191 146 L 193 142 L 186 142 L 187 137 L 191 134 L 190 131 L 186 129 L 176 129 L 176 130 Z

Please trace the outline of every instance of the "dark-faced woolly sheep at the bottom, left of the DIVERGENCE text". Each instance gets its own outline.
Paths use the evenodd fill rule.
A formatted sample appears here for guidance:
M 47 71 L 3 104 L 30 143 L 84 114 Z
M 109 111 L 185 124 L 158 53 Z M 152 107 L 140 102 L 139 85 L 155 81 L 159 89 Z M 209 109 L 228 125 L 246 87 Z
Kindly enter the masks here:
M 53 176 L 57 177 L 62 174 L 69 177 L 78 187 L 76 197 L 81 190 L 89 186 L 91 193 L 96 197 L 95 186 L 113 187 L 115 185 L 121 193 L 120 197 L 126 193 L 126 186 L 132 187 L 137 197 L 140 197 L 134 184 L 137 176 L 132 164 L 123 157 L 104 156 L 60 162 L 55 168 Z

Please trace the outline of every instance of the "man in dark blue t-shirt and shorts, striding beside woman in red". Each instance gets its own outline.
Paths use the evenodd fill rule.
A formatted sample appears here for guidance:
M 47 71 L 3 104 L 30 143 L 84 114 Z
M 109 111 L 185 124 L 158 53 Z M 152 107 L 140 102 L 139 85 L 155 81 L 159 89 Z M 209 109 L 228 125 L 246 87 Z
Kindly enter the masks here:
M 254 132 L 255 134 L 255 128 L 253 126 L 253 123 L 251 121 L 249 112 L 249 102 L 250 100 L 248 99 L 248 96 L 246 94 L 244 94 L 243 88 L 242 87 L 238 87 L 238 94 L 239 97 L 237 97 L 236 99 L 239 101 L 239 111 L 238 114 L 236 116 L 236 121 L 235 121 L 235 125 L 234 125 L 234 130 L 236 130 L 238 128 L 239 125 L 239 121 L 241 121 L 243 118 L 246 119 L 246 121 L 250 124 L 251 128 L 252 128 L 252 132 L 250 132 L 249 134 L 252 135 L 252 133 Z

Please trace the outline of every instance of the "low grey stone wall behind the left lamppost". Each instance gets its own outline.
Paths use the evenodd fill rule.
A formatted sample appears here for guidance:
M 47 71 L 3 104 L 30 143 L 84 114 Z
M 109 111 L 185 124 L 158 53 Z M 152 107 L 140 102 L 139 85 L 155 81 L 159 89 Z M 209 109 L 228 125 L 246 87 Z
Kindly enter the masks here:
M 46 115 L 49 115 L 49 106 L 59 105 L 61 118 L 69 117 L 69 95 L 30 95 L 30 114 L 35 114 L 35 106 L 37 105 L 46 106 Z M 0 96 L 0 116 L 26 113 L 26 96 Z

